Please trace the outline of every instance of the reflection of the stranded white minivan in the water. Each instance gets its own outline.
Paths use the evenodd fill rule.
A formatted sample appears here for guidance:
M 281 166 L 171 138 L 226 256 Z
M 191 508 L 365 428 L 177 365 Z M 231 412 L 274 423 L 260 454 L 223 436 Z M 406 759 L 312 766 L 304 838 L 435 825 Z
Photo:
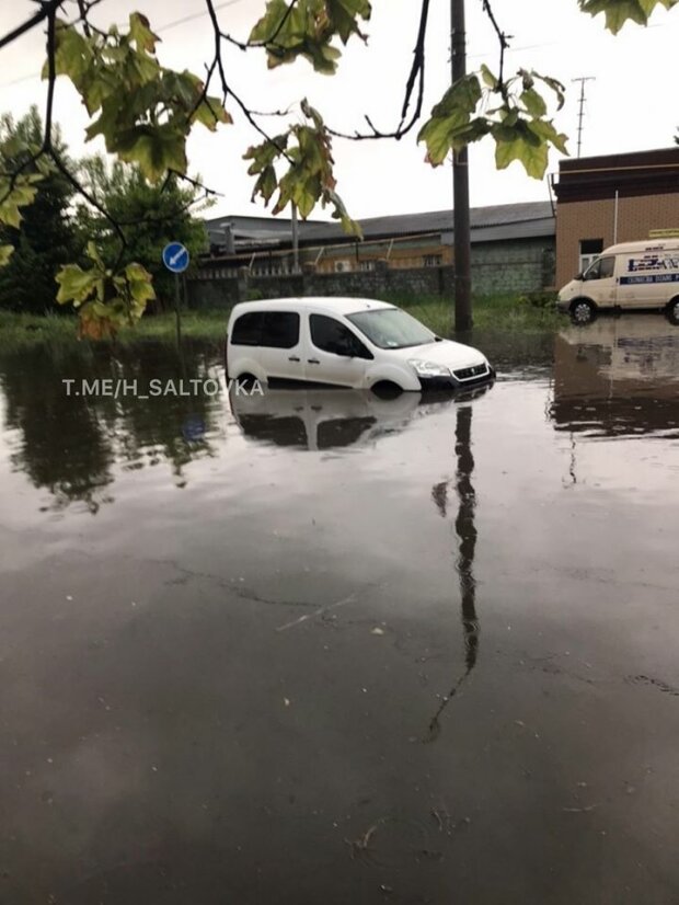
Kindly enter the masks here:
M 323 450 L 370 444 L 403 431 L 454 401 L 482 396 L 488 387 L 464 394 L 423 397 L 402 393 L 379 398 L 370 390 L 267 390 L 263 394 L 229 393 L 231 411 L 242 432 L 275 446 Z

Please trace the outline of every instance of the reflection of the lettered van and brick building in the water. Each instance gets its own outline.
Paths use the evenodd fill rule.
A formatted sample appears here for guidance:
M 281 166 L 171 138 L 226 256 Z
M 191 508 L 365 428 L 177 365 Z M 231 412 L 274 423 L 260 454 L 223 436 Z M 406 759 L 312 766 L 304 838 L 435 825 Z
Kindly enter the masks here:
M 556 429 L 679 436 L 679 331 L 653 314 L 606 318 L 556 336 Z

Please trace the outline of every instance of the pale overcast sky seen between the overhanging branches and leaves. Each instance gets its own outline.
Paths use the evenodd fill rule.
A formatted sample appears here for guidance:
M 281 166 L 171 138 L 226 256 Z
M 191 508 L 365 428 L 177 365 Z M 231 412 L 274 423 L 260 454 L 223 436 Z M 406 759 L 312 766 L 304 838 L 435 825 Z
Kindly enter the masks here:
M 264 0 L 217 0 L 222 30 L 245 38 L 264 9 Z M 345 48 L 340 72 L 317 76 L 306 60 L 266 69 L 263 51 L 227 51 L 228 76 L 234 89 L 256 110 L 287 107 L 307 96 L 334 128 L 353 131 L 369 114 L 378 127 L 398 123 L 412 50 L 415 44 L 419 0 L 373 0 L 367 46 L 352 41 Z M 577 0 L 493 0 L 500 26 L 514 35 L 509 71 L 534 68 L 554 76 L 567 89 L 567 102 L 557 125 L 567 133 L 576 152 L 579 85 L 572 79 L 594 76 L 587 83 L 584 154 L 617 153 L 668 147 L 679 126 L 675 87 L 679 75 L 679 10 L 655 13 L 651 26 L 629 24 L 618 37 L 603 28 L 603 19 L 578 10 Z M 467 0 L 469 67 L 486 62 L 497 69 L 496 39 L 482 12 L 481 0 Z M 31 0 L 0 0 L 0 32 L 4 34 L 34 12 Z M 133 10 L 150 19 L 160 33 L 161 62 L 196 73 L 209 59 L 212 36 L 209 21 L 200 14 L 203 0 L 103 0 L 96 9 L 100 24 L 125 23 Z M 427 43 L 428 111 L 449 81 L 450 2 L 431 0 Z M 191 21 L 177 20 L 195 16 Z M 44 35 L 34 32 L 0 50 L 0 111 L 20 116 L 32 103 L 44 103 L 38 72 L 44 58 Z M 84 145 L 87 114 L 65 79 L 58 80 L 57 118 L 73 153 L 101 149 Z M 218 92 L 216 92 L 218 93 Z M 252 205 L 252 179 L 241 156 L 257 140 L 231 104 L 234 126 L 208 133 L 196 126 L 189 139 L 192 172 L 199 172 L 210 187 L 223 193 L 215 215 L 263 214 Z M 271 121 L 269 121 L 271 123 Z M 271 123 L 272 128 L 275 125 Z M 497 172 L 494 142 L 471 150 L 471 198 L 474 206 L 523 201 L 546 201 L 545 183 L 528 179 L 518 163 Z M 452 204 L 450 167 L 431 169 L 415 135 L 401 142 L 335 142 L 338 191 L 354 217 L 444 209 Z M 559 156 L 551 159 L 555 172 Z M 312 215 L 322 215 L 320 209 Z

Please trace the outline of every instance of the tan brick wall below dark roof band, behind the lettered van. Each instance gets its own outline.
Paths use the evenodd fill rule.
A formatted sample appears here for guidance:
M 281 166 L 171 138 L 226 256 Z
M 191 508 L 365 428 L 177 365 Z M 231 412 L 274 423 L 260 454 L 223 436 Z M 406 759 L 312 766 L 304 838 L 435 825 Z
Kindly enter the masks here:
M 579 268 L 583 239 L 613 244 L 615 201 L 560 202 L 556 210 L 556 286 L 561 288 Z M 653 229 L 679 229 L 679 193 L 619 199 L 618 242 L 648 238 Z

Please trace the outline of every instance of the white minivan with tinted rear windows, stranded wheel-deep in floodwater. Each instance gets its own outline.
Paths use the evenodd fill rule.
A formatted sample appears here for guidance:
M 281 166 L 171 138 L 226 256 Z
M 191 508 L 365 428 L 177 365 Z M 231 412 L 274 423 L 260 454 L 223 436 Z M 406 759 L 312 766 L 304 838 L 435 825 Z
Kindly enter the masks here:
M 235 305 L 225 364 L 231 379 L 378 391 L 458 389 L 495 377 L 475 348 L 436 336 L 393 305 L 361 298 Z

